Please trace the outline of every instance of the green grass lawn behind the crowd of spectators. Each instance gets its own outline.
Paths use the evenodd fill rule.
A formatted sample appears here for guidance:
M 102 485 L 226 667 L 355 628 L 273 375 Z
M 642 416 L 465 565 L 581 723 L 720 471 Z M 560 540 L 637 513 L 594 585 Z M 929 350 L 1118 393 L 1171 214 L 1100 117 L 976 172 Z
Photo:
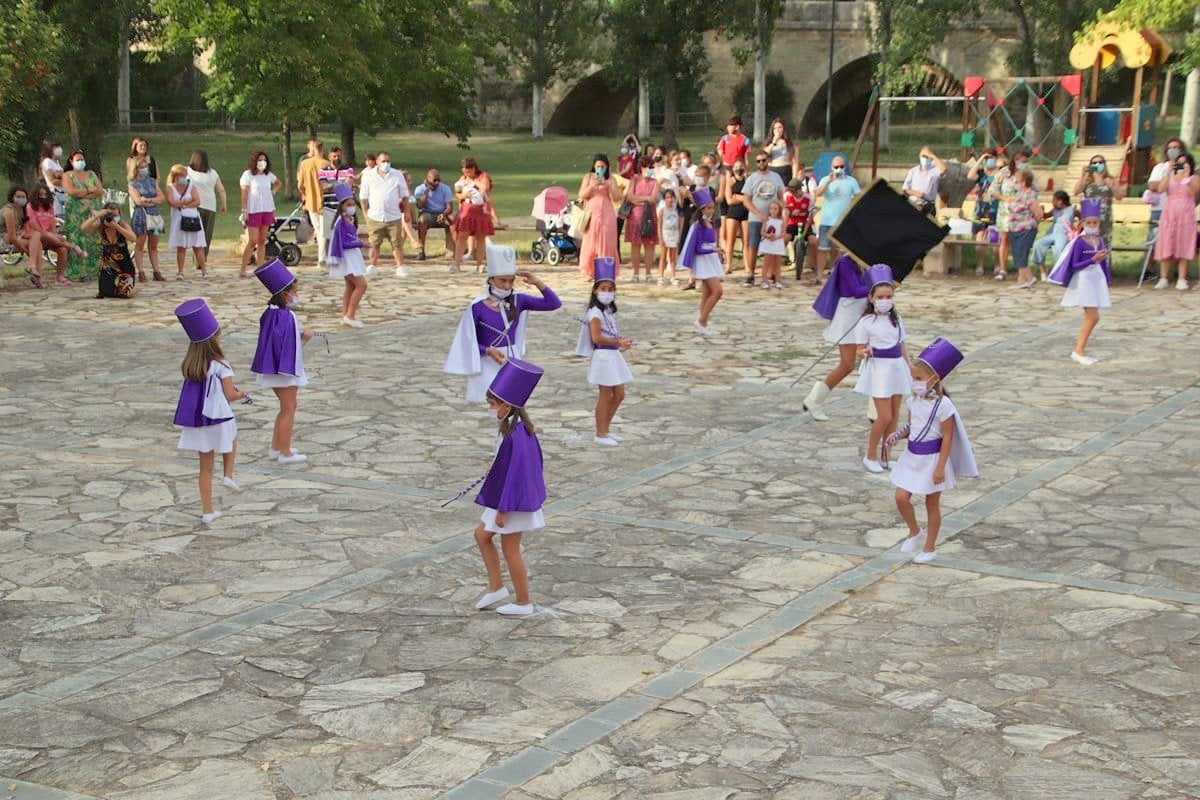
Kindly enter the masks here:
M 899 127 L 899 126 L 898 126 Z M 692 156 L 698 158 L 701 154 L 712 149 L 719 132 L 712 134 L 686 134 L 682 138 L 684 148 L 691 150 Z M 928 140 L 930 132 L 918 130 L 901 133 L 893 137 L 893 152 L 907 154 L 911 150 L 908 144 L 917 140 Z M 908 136 L 910 133 L 914 136 Z M 958 136 L 953 132 L 954 137 Z M 334 142 L 334 134 L 325 133 L 328 142 Z M 948 136 L 941 131 L 941 136 Z M 104 140 L 103 163 L 109 184 L 114 182 L 114 175 L 122 175 L 125 157 L 128 154 L 128 144 L 132 134 L 110 134 Z M 277 161 L 280 137 L 268 132 L 224 132 L 206 131 L 196 133 L 150 133 L 151 152 L 158 161 L 160 173 L 166 176 L 173 163 L 186 163 L 192 150 L 202 148 L 209 152 L 209 160 L 221 174 L 222 182 L 229 194 L 230 212 L 217 218 L 218 240 L 235 240 L 241 233 L 238 224 L 238 211 L 240 200 L 238 196 L 238 178 L 246 167 L 246 160 L 252 150 L 265 150 Z M 907 139 L 912 138 L 912 143 Z M 293 138 L 293 163 L 304 152 L 305 136 L 300 133 Z M 938 139 L 938 142 L 941 142 Z M 434 133 L 390 133 L 380 136 L 359 136 L 355 145 L 359 154 L 367 151 L 388 150 L 392 162 L 407 169 L 414 181 L 420 181 L 425 172 L 436 167 L 442 172 L 443 180 L 455 180 L 458 175 L 458 162 L 466 155 L 474 156 L 480 166 L 492 175 L 496 184 L 493 201 L 502 219 L 514 219 L 528 217 L 534 196 L 547 186 L 565 186 L 571 196 L 578 191 L 578 181 L 584 172 L 590 169 L 592 157 L 596 152 L 607 152 L 616 162 L 617 148 L 619 143 L 616 138 L 600 137 L 562 137 L 551 136 L 542 142 L 532 140 L 524 133 L 481 133 L 470 140 L 469 149 L 460 149 L 452 139 Z M 818 139 L 799 143 L 802 156 L 811 163 L 812 160 L 824 150 Z M 850 152 L 853 142 L 834 142 L 834 149 Z M 866 155 L 866 158 L 870 156 Z M 890 161 L 892 158 L 886 158 Z M 907 161 L 907 157 L 904 158 Z M 276 170 L 278 173 L 280 170 Z M 122 181 L 124 182 L 124 181 Z M 124 188 L 124 186 L 122 186 Z M 277 199 L 277 209 L 281 213 L 295 207 L 294 200 L 282 197 Z M 1145 227 L 1142 225 L 1118 225 L 1116 231 L 1116 245 L 1133 246 L 1145 240 Z M 434 234 L 431 240 L 432 248 L 439 235 Z M 500 231 L 497 240 L 517 247 L 518 252 L 527 252 L 534 234 L 529 230 Z M 973 270 L 974 249 L 967 248 L 964 253 L 964 266 Z M 1141 259 L 1134 253 L 1118 253 L 1116 258 L 1116 271 L 1120 275 L 1136 275 L 1141 265 Z

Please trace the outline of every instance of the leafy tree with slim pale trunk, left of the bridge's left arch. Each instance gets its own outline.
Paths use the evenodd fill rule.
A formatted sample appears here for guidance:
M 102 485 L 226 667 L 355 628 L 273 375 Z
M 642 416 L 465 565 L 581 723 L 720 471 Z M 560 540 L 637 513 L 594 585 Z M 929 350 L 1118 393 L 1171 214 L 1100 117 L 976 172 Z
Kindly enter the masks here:
M 509 61 L 533 90 L 534 139 L 541 139 L 541 95 L 587 64 L 595 46 L 595 10 L 571 0 L 502 0 L 492 6 Z

